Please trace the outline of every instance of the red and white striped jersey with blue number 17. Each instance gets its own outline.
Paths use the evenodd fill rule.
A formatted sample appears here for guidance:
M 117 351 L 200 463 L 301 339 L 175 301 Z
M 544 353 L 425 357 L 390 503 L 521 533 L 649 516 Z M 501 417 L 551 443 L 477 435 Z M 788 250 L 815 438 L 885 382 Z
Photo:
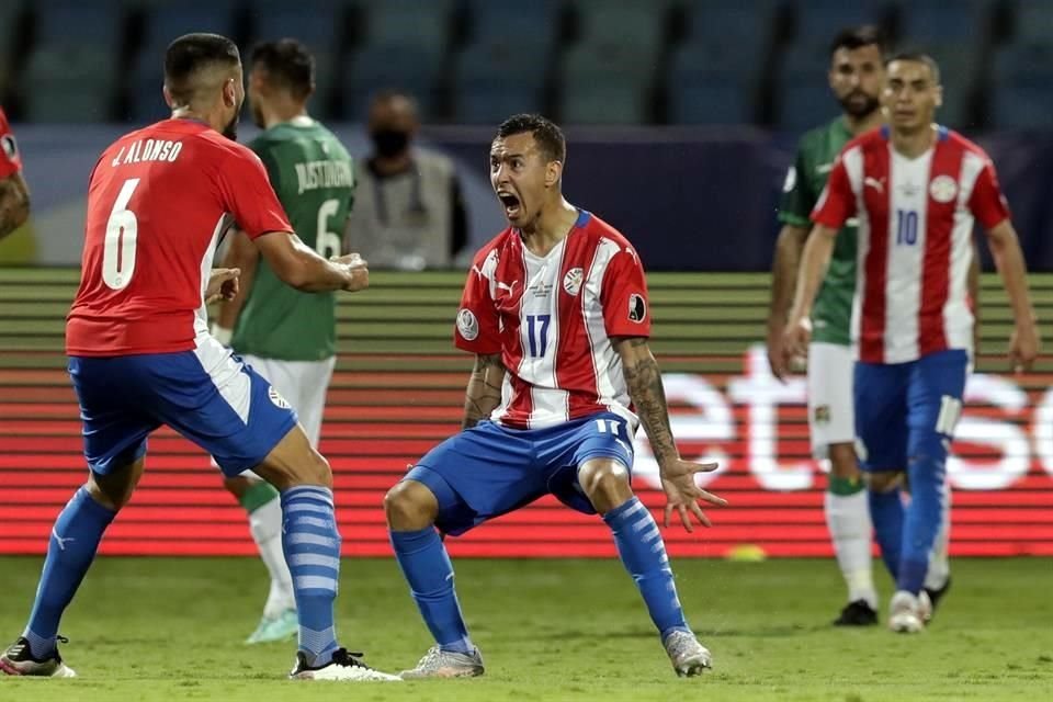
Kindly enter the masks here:
M 454 342 L 501 354 L 505 385 L 494 421 L 541 429 L 612 411 L 635 429 L 611 339 L 649 336 L 639 257 L 618 230 L 581 211 L 544 257 L 526 250 L 511 228 L 476 253 Z

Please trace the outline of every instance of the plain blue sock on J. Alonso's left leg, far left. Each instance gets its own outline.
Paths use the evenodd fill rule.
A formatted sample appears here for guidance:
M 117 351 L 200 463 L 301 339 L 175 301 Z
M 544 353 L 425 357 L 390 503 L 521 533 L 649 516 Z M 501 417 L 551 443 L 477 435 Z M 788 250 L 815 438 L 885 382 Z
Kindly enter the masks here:
M 77 593 L 95 557 L 99 541 L 115 516 L 116 512 L 93 500 L 86 488 L 80 488 L 55 521 L 33 612 L 22 634 L 35 657 L 43 658 L 55 650 L 63 612 Z

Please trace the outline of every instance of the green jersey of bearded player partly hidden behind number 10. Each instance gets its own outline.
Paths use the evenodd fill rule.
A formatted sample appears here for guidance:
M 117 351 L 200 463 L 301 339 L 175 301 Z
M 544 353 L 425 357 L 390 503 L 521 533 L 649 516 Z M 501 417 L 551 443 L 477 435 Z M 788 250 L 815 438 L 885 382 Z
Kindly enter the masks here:
M 786 173 L 782 189 L 779 220 L 797 227 L 811 227 L 808 216 L 826 188 L 826 179 L 834 160 L 852 133 L 838 117 L 829 124 L 812 129 L 797 143 L 797 156 Z M 838 233 L 834 244 L 830 268 L 819 287 L 812 312 L 812 340 L 848 344 L 852 319 L 852 298 L 856 295 L 856 219 Z

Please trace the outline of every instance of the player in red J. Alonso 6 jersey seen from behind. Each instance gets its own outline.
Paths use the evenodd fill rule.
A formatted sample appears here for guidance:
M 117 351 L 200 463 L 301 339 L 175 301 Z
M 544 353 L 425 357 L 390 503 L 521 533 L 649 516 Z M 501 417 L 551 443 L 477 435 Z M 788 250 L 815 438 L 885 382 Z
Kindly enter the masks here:
M 208 333 L 205 303 L 237 292 L 237 270 L 210 275 L 237 220 L 274 273 L 301 291 L 356 291 L 353 256 L 327 260 L 293 233 L 259 157 L 233 139 L 245 99 L 235 44 L 189 34 L 165 55 L 172 117 L 118 138 L 88 185 L 81 282 L 66 327 L 88 480 L 58 516 L 23 635 L 0 656 L 10 675 L 71 677 L 59 620 L 103 532 L 128 502 L 147 437 L 168 424 L 224 475 L 252 468 L 281 492 L 285 559 L 299 616 L 290 677 L 397 680 L 338 646 L 340 534 L 329 464 L 282 395 Z

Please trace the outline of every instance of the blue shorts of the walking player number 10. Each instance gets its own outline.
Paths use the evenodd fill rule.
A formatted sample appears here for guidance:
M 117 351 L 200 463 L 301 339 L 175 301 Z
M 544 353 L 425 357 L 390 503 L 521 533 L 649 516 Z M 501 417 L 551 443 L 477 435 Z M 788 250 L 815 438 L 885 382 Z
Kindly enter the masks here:
M 856 363 L 860 466 L 906 471 L 917 455 L 946 455 L 962 411 L 969 355 L 953 349 L 907 363 Z

